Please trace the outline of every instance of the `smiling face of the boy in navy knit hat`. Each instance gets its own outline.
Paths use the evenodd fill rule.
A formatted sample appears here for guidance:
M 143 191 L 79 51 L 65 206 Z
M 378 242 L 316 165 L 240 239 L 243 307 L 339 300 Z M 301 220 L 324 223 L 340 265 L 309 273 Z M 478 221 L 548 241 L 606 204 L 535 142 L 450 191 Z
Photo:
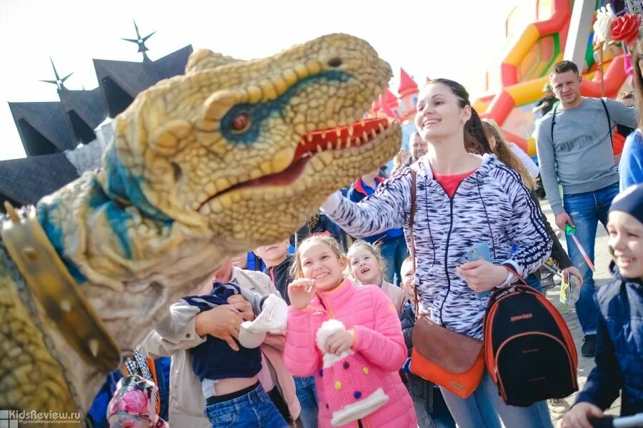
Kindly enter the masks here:
M 621 275 L 643 277 L 643 224 L 627 213 L 612 211 L 607 223 L 609 248 Z

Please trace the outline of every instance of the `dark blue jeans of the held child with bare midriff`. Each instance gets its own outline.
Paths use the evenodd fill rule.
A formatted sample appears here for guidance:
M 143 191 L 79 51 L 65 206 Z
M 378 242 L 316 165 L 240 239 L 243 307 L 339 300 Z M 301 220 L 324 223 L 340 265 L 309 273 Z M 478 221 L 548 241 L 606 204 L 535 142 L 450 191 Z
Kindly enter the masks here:
M 261 385 L 241 397 L 206 406 L 205 414 L 212 428 L 289 427 Z

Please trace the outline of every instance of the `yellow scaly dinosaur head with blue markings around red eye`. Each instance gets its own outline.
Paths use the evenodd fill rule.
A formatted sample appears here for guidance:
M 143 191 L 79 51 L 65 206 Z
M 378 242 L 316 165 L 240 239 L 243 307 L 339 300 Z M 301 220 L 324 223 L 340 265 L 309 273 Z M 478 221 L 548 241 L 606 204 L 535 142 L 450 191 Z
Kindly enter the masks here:
M 372 46 L 343 34 L 252 61 L 196 51 L 185 75 L 116 118 L 105 184 L 134 186 L 144 212 L 239 248 L 275 242 L 397 153 L 399 123 L 365 116 L 391 76 Z

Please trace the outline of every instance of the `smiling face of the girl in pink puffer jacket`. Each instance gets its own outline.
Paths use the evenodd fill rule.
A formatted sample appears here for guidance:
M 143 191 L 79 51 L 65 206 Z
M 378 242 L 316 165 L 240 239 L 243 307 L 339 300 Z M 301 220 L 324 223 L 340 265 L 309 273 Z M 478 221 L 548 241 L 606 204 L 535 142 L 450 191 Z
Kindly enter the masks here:
M 315 280 L 315 290 L 328 291 L 337 287 L 344 275 L 346 261 L 338 258 L 325 243 L 312 241 L 300 248 L 299 261 L 305 278 Z

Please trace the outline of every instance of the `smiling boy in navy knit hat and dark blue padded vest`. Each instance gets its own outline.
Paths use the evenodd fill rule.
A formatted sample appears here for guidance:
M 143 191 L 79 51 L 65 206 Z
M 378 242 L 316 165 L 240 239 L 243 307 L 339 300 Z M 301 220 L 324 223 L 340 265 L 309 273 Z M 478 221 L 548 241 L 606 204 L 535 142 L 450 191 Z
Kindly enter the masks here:
M 596 295 L 596 367 L 563 428 L 589 427 L 621 392 L 622 416 L 643 412 L 643 185 L 614 198 L 607 230 L 615 279 Z

